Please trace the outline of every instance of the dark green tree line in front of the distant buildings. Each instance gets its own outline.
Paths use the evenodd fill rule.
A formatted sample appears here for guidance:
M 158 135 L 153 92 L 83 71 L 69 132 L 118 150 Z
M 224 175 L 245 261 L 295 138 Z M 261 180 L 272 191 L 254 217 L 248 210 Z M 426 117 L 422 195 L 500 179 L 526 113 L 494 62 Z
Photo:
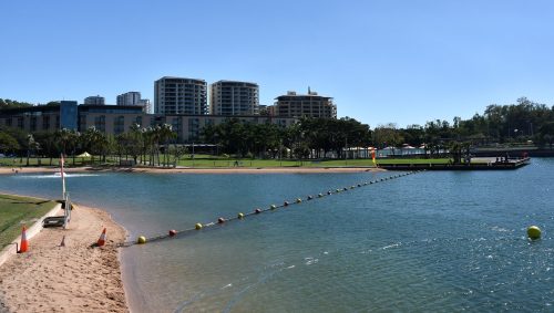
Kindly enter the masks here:
M 0 102 L 7 103 L 4 100 Z M 14 102 L 10 102 L 14 103 Z M 16 102 L 17 103 L 17 102 Z M 219 154 L 259 158 L 345 157 L 351 147 L 423 147 L 430 156 L 450 150 L 458 160 L 471 146 L 493 143 L 533 143 L 550 146 L 554 142 L 554 106 L 547 107 L 519 98 L 515 104 L 489 105 L 483 114 L 470 119 L 454 117 L 430 121 L 425 125 L 400 128 L 393 123 L 373 129 L 355 118 L 300 118 L 290 127 L 254 124 L 229 117 L 218 125 L 208 125 L 197 139 L 213 144 Z M 186 153 L 177 143 L 171 125 L 152 127 L 133 125 L 127 132 L 112 136 L 94 127 L 83 133 L 60 129 L 27 134 L 16 128 L 0 128 L 0 153 L 20 157 L 40 155 L 50 158 L 61 153 L 74 156 L 89 152 L 105 160 L 106 155 L 131 158 L 148 165 L 168 165 Z M 173 159 L 171 159 L 173 158 Z M 94 161 L 94 159 L 93 159 Z

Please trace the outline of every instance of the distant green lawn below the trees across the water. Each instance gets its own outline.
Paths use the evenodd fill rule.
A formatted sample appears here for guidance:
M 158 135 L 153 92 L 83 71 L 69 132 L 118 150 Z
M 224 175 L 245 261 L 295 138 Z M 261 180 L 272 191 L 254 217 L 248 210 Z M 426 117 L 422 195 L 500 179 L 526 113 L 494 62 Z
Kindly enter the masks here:
M 170 159 L 173 159 L 173 157 L 170 157 Z M 73 158 L 68 157 L 65 159 L 65 166 L 66 167 L 73 167 L 73 166 L 90 166 L 91 165 L 91 158 L 75 158 L 75 161 L 73 164 Z M 163 156 L 161 156 L 161 164 L 163 164 Z M 449 163 L 449 158 L 429 158 L 429 159 L 421 159 L 421 158 L 381 158 L 377 160 L 378 165 L 390 165 L 390 164 L 398 164 L 398 165 L 403 165 L 403 164 L 447 164 Z M 95 157 L 94 165 L 99 165 L 99 157 Z M 102 165 L 117 165 L 119 164 L 119 158 L 116 157 L 107 157 L 106 161 L 103 163 Z M 157 161 L 156 161 L 157 165 Z M 6 166 L 6 167 L 13 167 L 13 168 L 19 168 L 19 167 L 25 167 L 27 166 L 27 159 L 20 159 L 20 158 L 1 158 L 0 159 L 0 166 Z M 29 166 L 50 166 L 50 158 L 30 158 L 29 159 Z M 52 166 L 58 167 L 59 166 L 59 159 L 52 159 Z M 191 155 L 185 155 L 179 159 L 177 163 L 177 166 L 184 166 L 184 167 L 207 167 L 207 168 L 217 168 L 217 167 L 372 167 L 373 161 L 371 159 L 329 159 L 329 160 L 297 160 L 297 159 L 250 159 L 250 158 L 223 158 L 218 156 L 212 156 L 212 155 L 195 155 L 194 159 L 191 157 Z

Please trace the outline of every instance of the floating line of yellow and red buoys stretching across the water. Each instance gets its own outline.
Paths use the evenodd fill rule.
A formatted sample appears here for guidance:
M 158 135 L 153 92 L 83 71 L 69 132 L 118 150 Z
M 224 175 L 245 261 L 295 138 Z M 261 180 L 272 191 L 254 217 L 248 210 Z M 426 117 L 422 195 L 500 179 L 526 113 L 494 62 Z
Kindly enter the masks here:
M 245 212 L 238 212 L 235 217 L 230 217 L 230 218 L 220 217 L 217 220 L 208 222 L 208 223 L 199 223 L 198 222 L 193 228 L 188 228 L 188 229 L 184 229 L 184 230 L 174 230 L 174 229 L 172 229 L 172 230 L 168 230 L 167 233 L 155 236 L 155 237 L 146 238 L 146 237 L 144 237 L 144 236 L 141 234 L 134 241 L 125 241 L 125 242 L 122 242 L 122 243 L 117 243 L 117 247 L 131 247 L 131 246 L 134 246 L 134 244 L 143 244 L 143 243 L 146 243 L 146 242 L 152 242 L 152 241 L 157 241 L 157 240 L 162 240 L 162 239 L 166 239 L 166 238 L 173 238 L 173 237 L 177 237 L 177 236 L 182 236 L 182 234 L 186 234 L 186 233 L 192 233 L 192 232 L 196 232 L 196 231 L 199 231 L 202 229 L 205 229 L 205 228 L 213 228 L 213 227 L 222 226 L 222 225 L 225 225 L 227 222 L 235 221 L 235 220 L 243 220 L 243 219 L 245 219 L 245 218 L 247 218 L 249 216 L 260 215 L 260 213 L 264 213 L 264 212 L 267 212 L 267 211 L 275 211 L 277 209 L 286 208 L 286 207 L 289 207 L 289 206 L 293 206 L 293 205 L 299 205 L 304 200 L 311 201 L 315 198 L 324 198 L 324 197 L 331 196 L 334 194 L 341 194 L 343 191 L 348 191 L 348 190 L 351 190 L 351 189 L 355 189 L 355 188 L 360 188 L 360 187 L 365 187 L 365 186 L 369 186 L 369 185 L 375 185 L 375 184 L 378 184 L 378 182 L 382 182 L 382 181 L 387 181 L 387 180 L 391 180 L 391 179 L 404 177 L 404 176 L 417 174 L 417 173 L 420 173 L 420 171 L 424 171 L 424 169 L 412 170 L 412 171 L 408 171 L 408 173 L 404 173 L 404 174 L 398 174 L 398 175 L 392 175 L 392 176 L 389 176 L 389 177 L 373 179 L 373 180 L 370 180 L 370 181 L 365 181 L 365 182 L 360 182 L 360 184 L 357 184 L 357 185 L 352 185 L 350 187 L 337 188 L 337 189 L 335 189 L 335 191 L 329 190 L 329 191 L 326 191 L 326 192 L 320 192 L 320 194 L 318 194 L 316 196 L 311 196 L 310 195 L 310 196 L 307 196 L 306 198 L 296 198 L 296 200 L 294 200 L 291 202 L 284 201 L 283 205 L 270 205 L 267 208 L 256 208 L 256 209 L 254 209 L 254 211 L 246 212 L 246 213 Z

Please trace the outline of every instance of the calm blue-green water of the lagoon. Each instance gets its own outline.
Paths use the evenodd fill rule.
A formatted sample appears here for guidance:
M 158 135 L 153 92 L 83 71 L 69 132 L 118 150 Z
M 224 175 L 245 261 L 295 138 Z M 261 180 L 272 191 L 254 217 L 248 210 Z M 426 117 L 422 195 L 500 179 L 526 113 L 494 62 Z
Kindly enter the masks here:
M 134 239 L 389 175 L 101 174 L 68 186 Z M 133 309 L 552 312 L 553 177 L 554 159 L 422 173 L 125 248 Z M 17 194 L 59 197 L 60 185 L 50 175 L 0 177 L 0 190 Z M 527 241 L 530 225 L 542 240 Z

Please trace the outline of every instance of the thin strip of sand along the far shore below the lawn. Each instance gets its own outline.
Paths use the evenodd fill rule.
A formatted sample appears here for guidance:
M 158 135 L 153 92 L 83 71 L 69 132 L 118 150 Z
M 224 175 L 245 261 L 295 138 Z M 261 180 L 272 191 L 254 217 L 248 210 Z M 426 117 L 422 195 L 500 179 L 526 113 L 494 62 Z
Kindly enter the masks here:
M 18 170 L 18 173 L 14 171 Z M 375 167 L 66 167 L 64 173 L 146 173 L 146 174 L 321 174 L 384 171 Z M 59 167 L 0 167 L 0 175 L 59 173 Z

